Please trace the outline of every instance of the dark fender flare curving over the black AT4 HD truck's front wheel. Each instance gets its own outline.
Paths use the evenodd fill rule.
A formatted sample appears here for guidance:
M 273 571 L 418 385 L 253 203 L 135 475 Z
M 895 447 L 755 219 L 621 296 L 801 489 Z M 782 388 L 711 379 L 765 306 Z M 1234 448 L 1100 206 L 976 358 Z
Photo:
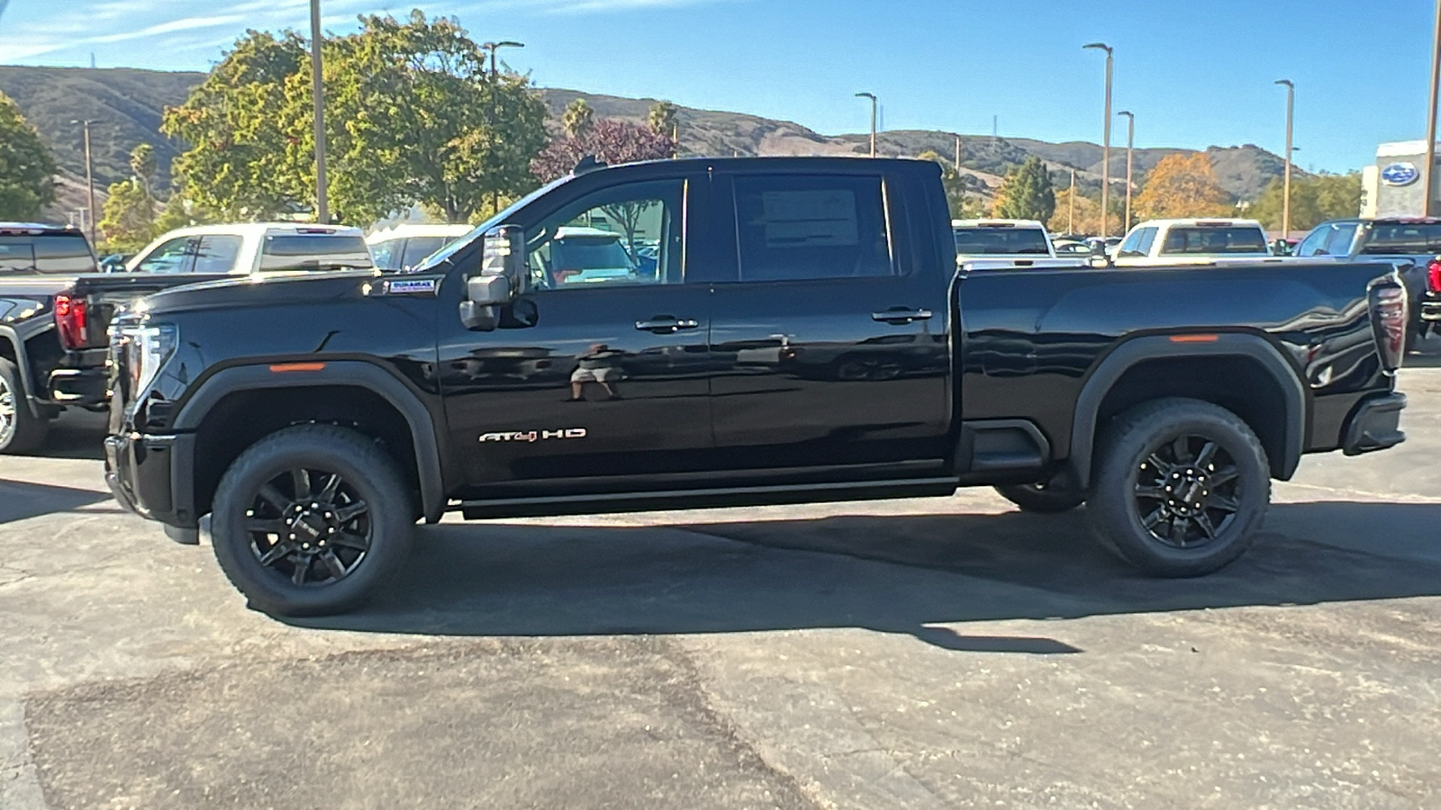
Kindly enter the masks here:
M 441 476 L 440 441 L 435 435 L 435 419 L 411 391 L 395 375 L 363 360 L 327 360 L 324 369 L 301 373 L 274 373 L 269 363 L 264 366 L 232 366 L 210 375 L 199 389 L 186 398 L 174 418 L 174 430 L 193 432 L 215 405 L 238 391 L 264 391 L 274 388 L 314 388 L 324 385 L 349 385 L 373 391 L 385 398 L 411 428 L 411 444 L 415 454 L 415 473 L 421 483 L 421 512 L 427 523 L 435 523 L 445 512 L 445 486 Z

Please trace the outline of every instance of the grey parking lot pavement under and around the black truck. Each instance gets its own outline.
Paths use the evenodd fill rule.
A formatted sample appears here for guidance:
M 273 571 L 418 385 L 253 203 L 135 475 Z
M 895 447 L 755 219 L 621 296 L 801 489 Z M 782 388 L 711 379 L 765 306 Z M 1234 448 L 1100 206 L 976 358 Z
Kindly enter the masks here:
M 1438 807 L 1441 368 L 1402 389 L 1202 579 L 974 490 L 448 520 L 294 623 L 68 421 L 0 460 L 0 807 Z

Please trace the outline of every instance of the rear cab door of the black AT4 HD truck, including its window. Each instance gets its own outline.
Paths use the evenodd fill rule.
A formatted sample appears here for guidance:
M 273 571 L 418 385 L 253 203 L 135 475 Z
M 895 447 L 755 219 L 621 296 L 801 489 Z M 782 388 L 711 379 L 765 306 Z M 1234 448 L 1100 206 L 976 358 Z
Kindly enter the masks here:
M 944 212 L 931 216 L 921 189 L 866 161 L 736 170 L 718 174 L 716 195 L 735 245 L 710 310 L 718 466 L 904 474 L 944 457 Z

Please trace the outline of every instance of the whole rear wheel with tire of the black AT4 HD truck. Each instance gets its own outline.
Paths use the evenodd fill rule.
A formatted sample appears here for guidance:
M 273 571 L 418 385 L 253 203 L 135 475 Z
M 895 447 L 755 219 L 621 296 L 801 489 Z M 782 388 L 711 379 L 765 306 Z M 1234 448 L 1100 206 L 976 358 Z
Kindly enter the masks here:
M 1265 450 L 1235 414 L 1157 399 L 1101 437 L 1087 500 L 1102 545 L 1153 577 L 1200 577 L 1241 556 L 1271 502 Z

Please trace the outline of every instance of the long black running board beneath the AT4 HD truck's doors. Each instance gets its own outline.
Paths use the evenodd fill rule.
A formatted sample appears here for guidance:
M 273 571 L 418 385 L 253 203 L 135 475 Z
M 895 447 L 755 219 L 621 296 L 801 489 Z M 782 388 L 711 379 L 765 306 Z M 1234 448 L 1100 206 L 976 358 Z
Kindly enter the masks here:
M 559 515 L 720 509 L 726 506 L 775 506 L 784 503 L 830 503 L 895 497 L 945 497 L 955 494 L 957 484 L 957 479 L 944 477 L 648 493 L 507 497 L 467 500 L 460 504 L 460 510 L 467 520 L 486 520 L 493 517 L 553 517 Z

